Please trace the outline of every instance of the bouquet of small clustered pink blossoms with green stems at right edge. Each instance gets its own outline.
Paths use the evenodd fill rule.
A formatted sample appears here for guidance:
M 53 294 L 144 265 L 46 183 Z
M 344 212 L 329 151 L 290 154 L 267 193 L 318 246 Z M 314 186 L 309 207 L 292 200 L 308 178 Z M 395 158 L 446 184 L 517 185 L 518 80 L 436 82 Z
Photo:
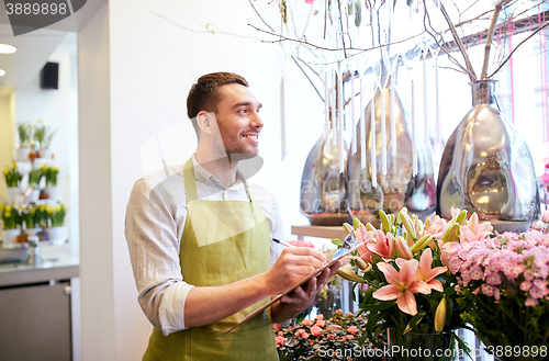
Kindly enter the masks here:
M 549 235 L 505 233 L 447 252 L 463 296 L 462 318 L 488 349 L 504 360 L 547 360 Z

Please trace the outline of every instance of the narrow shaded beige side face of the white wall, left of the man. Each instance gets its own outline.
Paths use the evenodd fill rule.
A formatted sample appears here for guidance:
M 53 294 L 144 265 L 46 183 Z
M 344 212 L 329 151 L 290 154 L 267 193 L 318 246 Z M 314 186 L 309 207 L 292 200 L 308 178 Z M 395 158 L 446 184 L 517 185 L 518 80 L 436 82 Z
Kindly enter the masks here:
M 109 58 L 105 4 L 78 34 L 81 347 L 89 361 L 116 360 L 114 336 L 123 331 L 113 304 Z

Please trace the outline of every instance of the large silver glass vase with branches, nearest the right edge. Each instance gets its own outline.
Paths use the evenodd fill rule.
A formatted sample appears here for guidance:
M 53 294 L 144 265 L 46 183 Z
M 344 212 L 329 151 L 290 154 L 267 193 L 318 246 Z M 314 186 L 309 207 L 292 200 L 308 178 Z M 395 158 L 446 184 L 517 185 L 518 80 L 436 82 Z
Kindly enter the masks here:
M 472 109 L 446 144 L 438 173 L 437 214 L 477 212 L 498 233 L 526 232 L 540 206 L 528 145 L 500 111 L 495 81 L 470 83 Z

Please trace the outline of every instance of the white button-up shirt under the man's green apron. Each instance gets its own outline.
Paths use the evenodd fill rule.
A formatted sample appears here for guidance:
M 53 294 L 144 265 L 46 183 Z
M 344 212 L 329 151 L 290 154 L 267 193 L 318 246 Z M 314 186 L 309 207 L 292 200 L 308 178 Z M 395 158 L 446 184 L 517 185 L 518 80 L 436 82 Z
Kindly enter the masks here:
M 192 156 L 197 195 L 206 201 L 249 202 L 240 179 L 225 188 Z M 179 264 L 179 242 L 187 218 L 183 165 L 139 179 L 132 189 L 126 208 L 125 236 L 138 302 L 148 320 L 165 336 L 186 329 L 184 302 L 193 285 L 184 282 Z M 158 184 L 161 188 L 156 188 Z M 283 239 L 278 203 L 270 192 L 248 182 L 249 192 L 267 218 L 271 238 Z M 155 189 L 156 188 L 156 189 Z M 270 266 L 283 247 L 271 242 Z

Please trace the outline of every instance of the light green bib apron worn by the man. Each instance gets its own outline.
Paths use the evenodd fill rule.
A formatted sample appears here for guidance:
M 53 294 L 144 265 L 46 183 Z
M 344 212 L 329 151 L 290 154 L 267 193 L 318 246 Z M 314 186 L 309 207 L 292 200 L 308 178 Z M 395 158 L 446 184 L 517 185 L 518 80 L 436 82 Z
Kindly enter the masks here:
M 217 286 L 267 271 L 269 227 L 254 196 L 248 193 L 250 202 L 198 200 L 192 159 L 184 165 L 183 176 L 188 206 L 179 253 L 183 280 L 195 286 Z M 155 328 L 143 360 L 276 361 L 270 308 L 224 335 L 268 301 L 168 336 Z

